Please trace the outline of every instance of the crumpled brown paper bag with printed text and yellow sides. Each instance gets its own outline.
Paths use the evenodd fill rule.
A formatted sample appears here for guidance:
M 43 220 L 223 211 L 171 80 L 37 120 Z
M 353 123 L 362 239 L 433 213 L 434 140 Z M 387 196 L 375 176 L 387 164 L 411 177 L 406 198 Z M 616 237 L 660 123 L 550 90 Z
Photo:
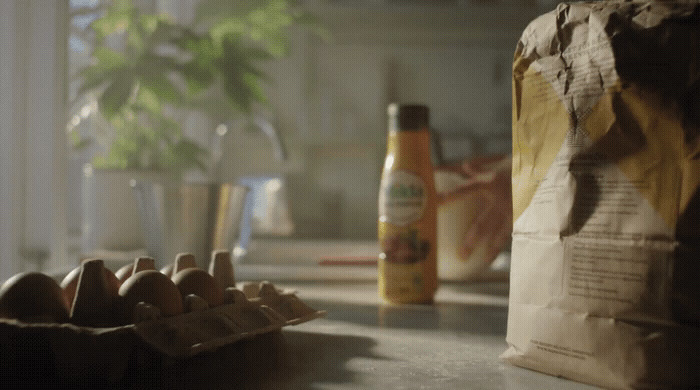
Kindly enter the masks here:
M 700 385 L 700 3 L 560 4 L 513 64 L 513 364 Z

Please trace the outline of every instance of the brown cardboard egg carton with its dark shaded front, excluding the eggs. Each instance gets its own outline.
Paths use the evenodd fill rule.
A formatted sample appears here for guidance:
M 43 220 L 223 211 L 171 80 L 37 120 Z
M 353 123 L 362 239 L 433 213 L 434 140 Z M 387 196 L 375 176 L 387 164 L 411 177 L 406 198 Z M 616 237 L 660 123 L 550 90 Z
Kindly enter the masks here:
M 0 367 L 4 367 L 0 380 L 36 383 L 45 376 L 68 379 L 68 383 L 114 383 L 122 380 L 139 351 L 184 360 L 326 314 L 306 305 L 295 292 L 268 282 L 241 286 L 226 289 L 223 305 L 201 309 L 190 305 L 188 312 L 172 317 L 161 317 L 157 310 L 142 305 L 139 321 L 117 327 L 0 319 Z

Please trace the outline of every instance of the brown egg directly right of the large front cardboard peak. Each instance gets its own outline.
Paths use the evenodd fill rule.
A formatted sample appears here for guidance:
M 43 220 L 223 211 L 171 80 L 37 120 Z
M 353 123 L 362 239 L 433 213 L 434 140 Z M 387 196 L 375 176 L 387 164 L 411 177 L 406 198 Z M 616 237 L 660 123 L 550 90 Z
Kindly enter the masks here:
M 133 274 L 122 283 L 119 295 L 123 297 L 122 318 L 127 323 L 132 322 L 134 306 L 139 302 L 157 307 L 164 317 L 182 314 L 184 311 L 180 290 L 170 278 L 156 270 Z

